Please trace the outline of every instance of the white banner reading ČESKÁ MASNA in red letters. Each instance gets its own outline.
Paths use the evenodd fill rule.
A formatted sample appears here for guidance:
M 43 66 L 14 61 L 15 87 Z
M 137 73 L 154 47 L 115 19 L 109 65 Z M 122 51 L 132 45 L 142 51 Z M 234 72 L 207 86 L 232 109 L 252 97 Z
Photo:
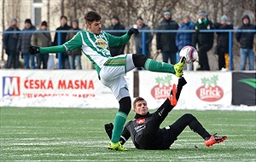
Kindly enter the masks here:
M 119 107 L 95 70 L 1 70 L 0 77 L 1 107 Z M 125 78 L 133 92 L 132 72 Z

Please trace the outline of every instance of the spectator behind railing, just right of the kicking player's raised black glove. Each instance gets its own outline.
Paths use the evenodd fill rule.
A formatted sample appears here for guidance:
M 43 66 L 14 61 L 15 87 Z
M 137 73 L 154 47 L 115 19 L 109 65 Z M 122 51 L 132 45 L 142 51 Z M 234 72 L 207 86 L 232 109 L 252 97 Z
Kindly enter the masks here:
M 137 29 L 139 31 L 150 30 L 150 27 L 143 22 L 143 18 L 141 16 L 137 17 L 136 24 L 137 24 Z M 134 36 L 135 45 L 136 45 L 136 54 L 143 54 L 143 55 L 146 55 L 148 58 L 150 58 L 149 45 L 153 38 L 152 34 L 150 32 L 145 32 L 145 53 L 143 53 L 142 35 L 143 35 L 142 32 L 140 32 Z M 141 70 L 141 67 L 137 67 L 137 69 Z

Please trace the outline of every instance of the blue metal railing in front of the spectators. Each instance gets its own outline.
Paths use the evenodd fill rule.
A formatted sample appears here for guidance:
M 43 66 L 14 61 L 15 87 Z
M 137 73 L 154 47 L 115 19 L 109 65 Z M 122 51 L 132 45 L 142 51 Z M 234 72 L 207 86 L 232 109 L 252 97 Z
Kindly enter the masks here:
M 79 31 L 0 31 L 0 34 L 8 34 L 8 33 L 38 33 L 38 32 L 57 32 L 58 33 L 58 45 L 61 45 L 61 32 L 79 32 Z M 126 30 L 105 30 L 105 32 L 127 32 Z M 146 34 L 147 32 L 150 33 L 157 33 L 157 32 L 196 32 L 195 30 L 141 30 L 142 32 L 142 42 L 143 42 L 143 54 L 146 51 Z M 256 32 L 256 30 L 200 30 L 197 32 L 229 32 L 229 55 L 230 55 L 230 70 L 233 67 L 233 33 L 236 32 Z M 61 54 L 58 53 L 58 68 L 61 69 Z

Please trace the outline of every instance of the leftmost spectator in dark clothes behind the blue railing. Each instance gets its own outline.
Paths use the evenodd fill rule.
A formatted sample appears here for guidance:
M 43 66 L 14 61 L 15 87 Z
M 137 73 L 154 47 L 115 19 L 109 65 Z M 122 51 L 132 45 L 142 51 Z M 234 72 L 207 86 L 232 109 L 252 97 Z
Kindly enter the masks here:
M 19 40 L 19 33 L 15 33 L 15 31 L 20 31 L 17 26 L 18 20 L 13 18 L 10 21 L 10 26 L 6 30 L 6 32 L 14 32 L 14 33 L 5 33 L 3 34 L 3 49 L 5 49 L 5 53 L 8 55 L 6 68 L 11 68 L 12 63 L 14 63 L 14 68 L 19 68 L 19 53 L 16 51 L 17 43 Z

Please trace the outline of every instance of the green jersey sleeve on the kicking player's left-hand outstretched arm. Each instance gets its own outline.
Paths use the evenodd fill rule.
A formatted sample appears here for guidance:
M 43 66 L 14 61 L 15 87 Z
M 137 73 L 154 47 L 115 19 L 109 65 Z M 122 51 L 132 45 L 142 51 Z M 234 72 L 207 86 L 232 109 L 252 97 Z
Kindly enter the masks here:
M 63 43 L 63 46 L 65 47 L 66 51 L 78 49 L 82 47 L 82 32 L 78 32 L 76 35 L 73 36 L 72 39 L 67 41 L 66 43 Z

